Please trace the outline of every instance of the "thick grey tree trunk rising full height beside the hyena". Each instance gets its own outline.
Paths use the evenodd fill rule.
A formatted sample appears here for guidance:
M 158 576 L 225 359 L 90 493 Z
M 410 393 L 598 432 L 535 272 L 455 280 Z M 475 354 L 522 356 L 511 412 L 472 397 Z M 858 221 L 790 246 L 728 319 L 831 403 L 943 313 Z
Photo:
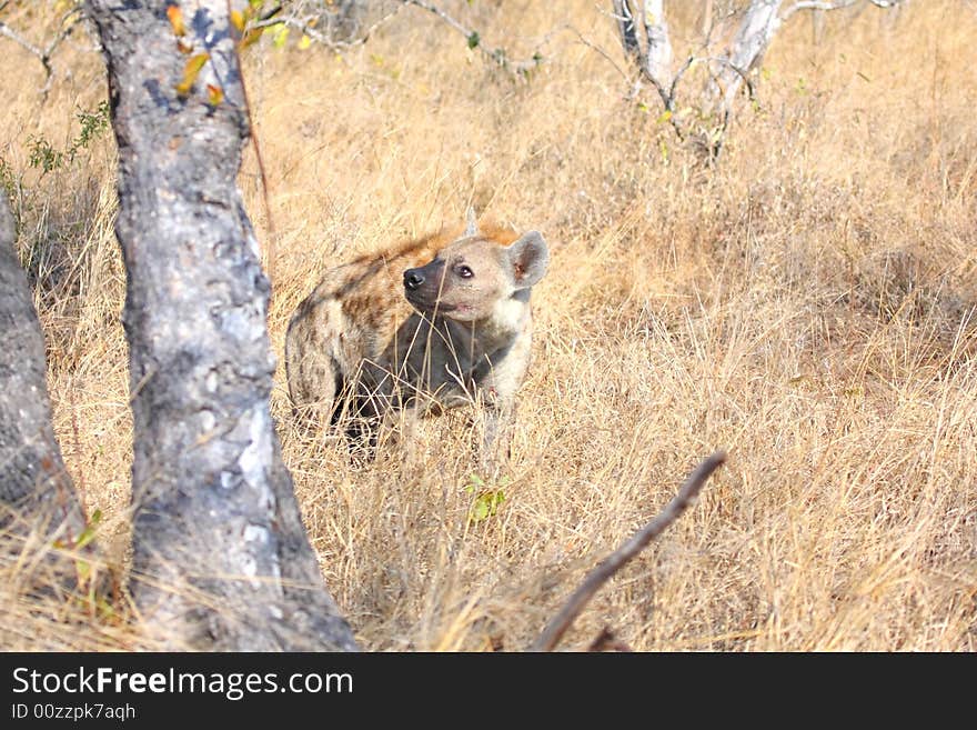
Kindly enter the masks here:
M 132 593 L 165 646 L 352 650 L 269 410 L 269 282 L 235 178 L 246 104 L 225 0 L 90 0 L 119 144 L 134 427 Z M 223 89 L 208 103 L 204 84 Z

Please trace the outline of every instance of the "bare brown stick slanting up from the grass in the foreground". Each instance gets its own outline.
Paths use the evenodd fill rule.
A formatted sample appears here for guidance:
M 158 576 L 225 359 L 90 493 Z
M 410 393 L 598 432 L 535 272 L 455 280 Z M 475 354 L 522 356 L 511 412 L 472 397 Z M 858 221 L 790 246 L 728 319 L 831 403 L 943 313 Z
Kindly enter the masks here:
M 577 588 L 566 600 L 566 603 L 563 606 L 560 613 L 550 621 L 543 630 L 543 633 L 540 634 L 536 643 L 533 644 L 533 651 L 552 651 L 566 630 L 571 627 L 574 619 L 576 619 L 601 587 L 632 558 L 644 550 L 652 540 L 662 534 L 668 526 L 678 519 L 686 508 L 695 501 L 695 498 L 706 483 L 706 480 L 725 461 L 726 454 L 723 451 L 716 451 L 716 453 L 706 458 L 706 460 L 688 476 L 688 479 L 682 484 L 678 493 L 672 498 L 672 501 L 668 502 L 665 509 L 662 510 L 654 520 L 638 530 L 627 542 L 594 568 L 581 587 Z

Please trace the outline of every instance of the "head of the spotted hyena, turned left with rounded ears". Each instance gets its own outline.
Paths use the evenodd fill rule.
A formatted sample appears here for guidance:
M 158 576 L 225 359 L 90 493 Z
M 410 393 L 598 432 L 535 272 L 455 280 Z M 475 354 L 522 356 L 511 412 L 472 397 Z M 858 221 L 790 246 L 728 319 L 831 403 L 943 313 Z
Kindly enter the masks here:
M 548 263 L 550 251 L 538 231 L 505 246 L 480 233 L 470 220 L 465 234 L 433 261 L 404 271 L 404 296 L 423 313 L 461 322 L 486 320 L 505 302 L 527 302 L 530 288 Z

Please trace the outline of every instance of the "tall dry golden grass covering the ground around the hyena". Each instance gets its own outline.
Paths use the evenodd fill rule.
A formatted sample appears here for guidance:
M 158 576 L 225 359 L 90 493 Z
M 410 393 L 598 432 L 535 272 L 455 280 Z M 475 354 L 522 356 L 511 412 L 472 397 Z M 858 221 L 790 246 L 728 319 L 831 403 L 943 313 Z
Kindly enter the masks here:
M 556 24 L 550 3 L 454 4 L 514 54 Z M 566 6 L 560 22 L 621 58 L 594 3 Z M 252 54 L 279 354 L 326 268 L 460 222 L 470 201 L 540 229 L 553 254 L 490 519 L 467 519 L 463 418 L 354 467 L 338 439 L 294 428 L 280 373 L 285 457 L 364 648 L 527 647 L 715 448 L 729 461 L 698 506 L 564 646 L 610 624 L 641 650 L 977 648 L 977 12 L 931 0 L 882 18 L 829 19 L 815 47 L 795 17 L 714 170 L 624 101 L 618 72 L 568 30 L 527 84 L 420 12 L 343 58 Z M 37 61 L 3 49 L 22 72 L 0 79 L 0 156 L 23 176 L 56 427 L 121 563 L 131 426 L 113 151 L 99 141 L 43 178 L 27 163 L 29 134 L 63 147 L 77 133 L 70 110 L 103 98 L 103 71 L 67 49 L 43 102 Z M 241 183 L 270 242 L 251 158 Z M 4 648 L 147 646 L 138 623 L 31 602 L 9 588 L 16 570 L 0 580 Z

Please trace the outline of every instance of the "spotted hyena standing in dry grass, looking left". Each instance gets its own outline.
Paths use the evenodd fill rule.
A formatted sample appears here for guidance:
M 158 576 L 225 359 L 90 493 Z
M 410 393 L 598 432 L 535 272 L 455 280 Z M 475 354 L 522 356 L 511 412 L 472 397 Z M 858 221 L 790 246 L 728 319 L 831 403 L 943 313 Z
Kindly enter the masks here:
M 459 231 L 460 232 L 460 231 Z M 375 426 L 481 401 L 483 458 L 500 437 L 530 364 L 532 287 L 550 261 L 537 231 L 436 233 L 330 270 L 299 304 L 285 338 L 296 411 L 336 422 L 372 446 Z M 505 429 L 507 430 L 507 429 Z

